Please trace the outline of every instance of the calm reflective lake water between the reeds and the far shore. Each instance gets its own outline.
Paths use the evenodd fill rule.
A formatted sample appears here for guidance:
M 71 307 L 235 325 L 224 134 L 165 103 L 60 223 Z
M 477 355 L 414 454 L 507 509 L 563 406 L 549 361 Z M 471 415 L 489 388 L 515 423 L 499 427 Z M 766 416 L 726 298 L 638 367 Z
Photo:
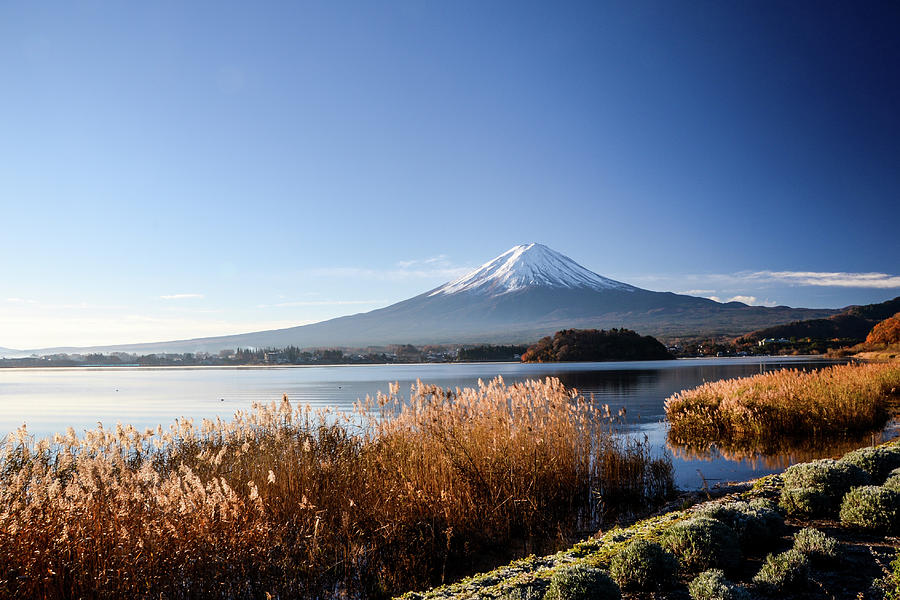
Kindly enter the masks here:
M 497 375 L 507 383 L 553 376 L 586 396 L 593 395 L 596 402 L 609 404 L 613 413 L 624 407 L 627 433 L 646 435 L 655 452 L 672 456 L 677 485 L 689 489 L 702 487 L 704 480 L 712 485 L 777 472 L 812 456 L 799 452 L 726 457 L 714 450 L 697 456 L 669 447 L 663 411 L 668 396 L 705 381 L 831 364 L 835 363 L 778 357 L 566 364 L 0 369 L 0 434 L 23 423 L 31 434 L 43 437 L 66 427 L 81 433 L 98 422 L 104 427 L 121 422 L 143 428 L 165 427 L 180 417 L 197 421 L 230 418 L 236 410 L 246 410 L 254 402 L 280 400 L 284 393 L 294 403 L 349 409 L 367 394 L 374 397 L 379 390 L 387 392 L 388 383 L 394 381 L 400 383 L 401 395 L 408 397 L 416 379 L 455 388 Z M 894 433 L 892 424 L 883 435 Z

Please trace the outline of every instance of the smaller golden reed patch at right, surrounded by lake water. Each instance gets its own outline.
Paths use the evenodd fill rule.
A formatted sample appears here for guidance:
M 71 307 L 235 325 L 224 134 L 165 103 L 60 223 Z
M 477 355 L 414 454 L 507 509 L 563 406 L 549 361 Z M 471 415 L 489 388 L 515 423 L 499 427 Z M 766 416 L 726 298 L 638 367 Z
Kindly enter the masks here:
M 669 439 L 699 447 L 781 448 L 883 426 L 900 400 L 900 362 L 776 371 L 705 383 L 666 399 Z

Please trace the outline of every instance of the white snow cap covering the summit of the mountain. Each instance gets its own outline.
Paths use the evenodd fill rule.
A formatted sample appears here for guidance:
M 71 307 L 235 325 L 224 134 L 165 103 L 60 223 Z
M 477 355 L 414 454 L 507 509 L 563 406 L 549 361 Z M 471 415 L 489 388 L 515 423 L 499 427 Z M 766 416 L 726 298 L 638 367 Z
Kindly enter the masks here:
M 500 295 L 526 287 L 587 288 L 634 291 L 638 288 L 601 277 L 574 260 L 544 246 L 513 246 L 459 279 L 429 293 L 429 296 L 475 292 Z

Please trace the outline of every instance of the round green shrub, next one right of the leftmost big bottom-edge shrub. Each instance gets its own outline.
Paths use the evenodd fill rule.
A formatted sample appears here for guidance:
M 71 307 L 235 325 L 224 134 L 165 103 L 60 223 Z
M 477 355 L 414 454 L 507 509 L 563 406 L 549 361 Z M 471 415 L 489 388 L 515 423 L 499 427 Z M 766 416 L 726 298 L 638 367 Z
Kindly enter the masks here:
M 635 540 L 613 557 L 609 573 L 623 590 L 663 590 L 675 584 L 678 561 L 659 544 Z

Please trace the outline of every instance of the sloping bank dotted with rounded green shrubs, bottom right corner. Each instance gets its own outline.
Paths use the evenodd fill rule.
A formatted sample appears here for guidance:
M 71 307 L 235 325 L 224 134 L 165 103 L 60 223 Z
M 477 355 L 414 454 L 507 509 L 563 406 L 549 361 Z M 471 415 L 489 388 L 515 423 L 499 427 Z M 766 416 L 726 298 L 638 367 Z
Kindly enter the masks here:
M 900 597 L 900 445 L 685 499 L 543 557 L 403 600 Z

